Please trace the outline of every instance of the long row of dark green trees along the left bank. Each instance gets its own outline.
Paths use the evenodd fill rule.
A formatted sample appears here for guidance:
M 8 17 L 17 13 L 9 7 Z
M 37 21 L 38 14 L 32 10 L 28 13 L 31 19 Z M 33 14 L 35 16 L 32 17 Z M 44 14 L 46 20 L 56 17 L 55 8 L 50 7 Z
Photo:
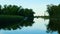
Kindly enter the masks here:
M 22 6 L 16 5 L 0 5 L 0 15 L 20 15 L 20 16 L 31 16 L 34 12 L 32 9 L 23 8 Z

